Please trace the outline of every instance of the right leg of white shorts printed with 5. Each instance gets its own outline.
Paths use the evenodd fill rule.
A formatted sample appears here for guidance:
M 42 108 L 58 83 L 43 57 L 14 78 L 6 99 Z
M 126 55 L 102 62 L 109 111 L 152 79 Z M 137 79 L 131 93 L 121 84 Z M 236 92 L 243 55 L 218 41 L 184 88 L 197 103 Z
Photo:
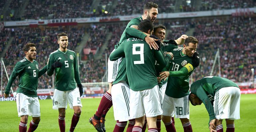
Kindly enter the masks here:
M 73 109 L 73 106 L 81 106 L 81 98 L 80 98 L 80 92 L 78 87 L 76 87 L 73 90 L 70 90 L 67 92 L 67 97 L 68 97 L 68 104 L 70 109 Z

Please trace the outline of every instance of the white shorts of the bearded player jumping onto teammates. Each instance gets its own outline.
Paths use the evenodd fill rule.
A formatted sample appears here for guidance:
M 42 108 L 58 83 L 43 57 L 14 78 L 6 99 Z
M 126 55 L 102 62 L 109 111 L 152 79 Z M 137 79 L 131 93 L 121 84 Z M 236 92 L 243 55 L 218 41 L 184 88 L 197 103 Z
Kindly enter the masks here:
M 115 51 L 115 49 L 113 51 Z M 116 76 L 118 73 L 118 67 L 119 67 L 121 60 L 122 60 L 122 57 L 115 61 L 110 61 L 109 57 L 108 57 L 108 82 L 109 83 L 112 83 L 116 80 Z

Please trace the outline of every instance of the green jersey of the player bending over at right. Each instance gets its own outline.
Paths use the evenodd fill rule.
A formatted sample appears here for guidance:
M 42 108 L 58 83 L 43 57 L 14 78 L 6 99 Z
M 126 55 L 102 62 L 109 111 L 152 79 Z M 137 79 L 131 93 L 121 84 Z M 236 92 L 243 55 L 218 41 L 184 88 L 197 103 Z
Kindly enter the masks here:
M 226 78 L 209 76 L 191 84 L 191 93 L 195 94 L 205 105 L 210 120 L 215 119 L 213 101 L 215 93 L 223 87 L 238 87 L 238 85 Z M 239 88 L 239 87 L 238 87 Z

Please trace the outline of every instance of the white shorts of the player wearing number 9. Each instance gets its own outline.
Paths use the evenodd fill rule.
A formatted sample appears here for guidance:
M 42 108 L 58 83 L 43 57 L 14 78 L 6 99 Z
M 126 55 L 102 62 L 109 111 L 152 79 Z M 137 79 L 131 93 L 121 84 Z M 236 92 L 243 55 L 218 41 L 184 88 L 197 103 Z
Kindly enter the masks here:
M 130 89 L 130 118 L 139 118 L 146 114 L 147 117 L 162 115 L 159 87 L 142 91 Z

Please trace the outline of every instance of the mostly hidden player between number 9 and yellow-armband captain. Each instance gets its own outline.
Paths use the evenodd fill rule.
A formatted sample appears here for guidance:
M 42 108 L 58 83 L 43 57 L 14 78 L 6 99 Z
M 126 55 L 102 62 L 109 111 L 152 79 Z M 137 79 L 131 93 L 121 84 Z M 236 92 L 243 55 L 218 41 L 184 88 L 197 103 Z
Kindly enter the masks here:
M 157 25 L 154 27 L 154 31 L 153 31 L 153 35 L 155 35 L 156 37 L 159 38 L 159 40 L 161 41 L 161 50 L 163 51 L 163 54 L 166 54 L 166 52 L 171 51 L 172 49 L 178 48 L 178 45 L 184 44 L 185 39 L 188 37 L 187 35 L 182 35 L 180 38 L 178 38 L 177 40 L 165 40 L 165 34 L 166 34 L 166 27 L 164 25 Z M 155 63 L 156 65 L 156 71 L 157 71 L 157 75 L 159 76 L 159 73 L 162 71 L 162 69 L 158 68 L 158 64 L 157 62 Z M 159 83 L 159 92 L 160 92 L 160 100 L 161 103 L 164 100 L 164 95 L 165 95 L 165 89 L 167 86 L 167 79 L 164 81 L 162 80 Z M 162 115 L 157 116 L 157 129 L 160 132 L 161 131 L 161 118 Z M 172 117 L 172 121 L 174 123 L 174 117 Z M 146 127 L 146 122 L 143 126 L 143 128 L 145 129 Z M 143 129 L 143 131 L 145 131 Z

